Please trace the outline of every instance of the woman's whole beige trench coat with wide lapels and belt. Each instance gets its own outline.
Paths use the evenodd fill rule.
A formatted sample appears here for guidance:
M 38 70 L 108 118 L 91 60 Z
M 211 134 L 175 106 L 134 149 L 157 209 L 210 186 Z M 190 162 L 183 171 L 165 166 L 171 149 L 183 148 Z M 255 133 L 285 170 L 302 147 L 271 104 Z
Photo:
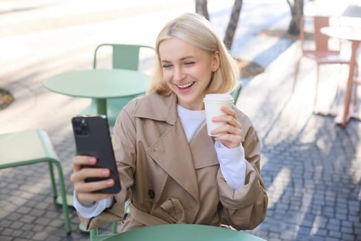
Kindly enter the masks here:
M 122 220 L 124 201 L 131 213 L 122 231 L 171 223 L 231 225 L 254 229 L 267 210 L 260 176 L 261 146 L 250 119 L 237 109 L 243 126 L 245 186 L 233 191 L 224 180 L 206 126 L 187 142 L 177 116 L 177 97 L 150 94 L 131 101 L 118 116 L 113 147 L 122 191 L 99 216 L 86 219 L 87 229 Z

